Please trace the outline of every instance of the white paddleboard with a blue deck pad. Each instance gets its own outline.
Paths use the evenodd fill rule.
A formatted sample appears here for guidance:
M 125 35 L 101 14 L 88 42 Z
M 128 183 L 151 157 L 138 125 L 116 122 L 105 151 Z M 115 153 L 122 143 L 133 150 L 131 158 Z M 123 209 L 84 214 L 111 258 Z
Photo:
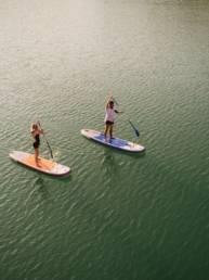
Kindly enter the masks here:
M 110 140 L 108 140 L 108 138 L 107 138 L 107 141 L 105 141 L 104 133 L 92 130 L 92 129 L 81 129 L 80 132 L 84 137 L 92 139 L 99 143 L 102 143 L 102 144 L 105 144 L 108 147 L 113 147 L 113 148 L 116 148 L 119 150 L 123 150 L 127 152 L 140 153 L 145 150 L 145 148 L 141 144 L 132 143 L 130 141 L 119 139 L 119 138 L 113 138 Z

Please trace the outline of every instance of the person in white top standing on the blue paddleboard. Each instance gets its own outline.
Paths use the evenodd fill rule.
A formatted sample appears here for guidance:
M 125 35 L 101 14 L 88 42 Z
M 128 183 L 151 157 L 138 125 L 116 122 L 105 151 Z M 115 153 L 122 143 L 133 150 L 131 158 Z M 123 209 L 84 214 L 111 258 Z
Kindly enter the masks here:
M 107 141 L 107 133 L 109 132 L 110 139 L 113 138 L 113 127 L 114 127 L 114 117 L 116 114 L 123 113 L 122 111 L 117 111 L 114 109 L 114 99 L 110 97 L 105 105 L 105 130 L 104 130 L 104 138 Z

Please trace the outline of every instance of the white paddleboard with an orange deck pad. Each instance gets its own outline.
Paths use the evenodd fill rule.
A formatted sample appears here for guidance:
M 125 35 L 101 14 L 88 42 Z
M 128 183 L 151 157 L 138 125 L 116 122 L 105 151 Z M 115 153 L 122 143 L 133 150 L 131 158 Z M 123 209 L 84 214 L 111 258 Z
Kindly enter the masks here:
M 27 167 L 30 167 L 32 169 L 36 169 L 44 174 L 49 174 L 53 176 L 64 176 L 70 173 L 69 167 L 55 163 L 50 160 L 45 160 L 40 156 L 37 165 L 35 162 L 35 155 L 30 153 L 13 151 L 10 153 L 10 157 L 17 163 L 21 163 Z

